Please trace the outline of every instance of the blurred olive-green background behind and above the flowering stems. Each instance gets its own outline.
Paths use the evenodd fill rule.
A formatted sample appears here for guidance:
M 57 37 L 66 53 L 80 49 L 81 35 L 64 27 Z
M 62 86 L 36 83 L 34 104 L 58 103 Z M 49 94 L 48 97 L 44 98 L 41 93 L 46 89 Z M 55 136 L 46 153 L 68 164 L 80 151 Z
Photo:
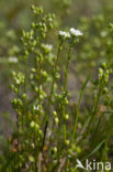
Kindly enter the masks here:
M 71 101 L 76 101 L 88 74 L 95 77 L 100 63 L 111 58 L 106 56 L 111 41 L 108 28 L 113 21 L 112 0 L 0 0 L 0 144 L 13 128 L 11 71 L 19 68 L 16 57 L 21 52 L 21 31 L 27 31 L 33 20 L 31 4 L 42 6 L 45 13 L 56 14 L 53 31 L 56 34 L 50 36 L 54 45 L 59 30 L 76 28 L 83 32 L 70 64 L 68 88 L 71 89 Z M 60 61 L 64 64 L 65 60 Z M 87 105 L 90 105 L 91 98 L 89 96 Z

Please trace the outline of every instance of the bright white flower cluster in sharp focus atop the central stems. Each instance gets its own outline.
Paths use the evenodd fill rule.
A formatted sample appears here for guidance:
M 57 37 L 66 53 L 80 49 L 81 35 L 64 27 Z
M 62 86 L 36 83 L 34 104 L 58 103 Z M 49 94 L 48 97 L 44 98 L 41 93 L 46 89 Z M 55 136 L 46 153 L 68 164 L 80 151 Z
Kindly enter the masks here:
M 69 32 L 66 32 L 66 31 L 59 31 L 58 35 L 66 40 L 66 39 L 70 39 L 71 36 L 81 36 L 82 35 L 82 32 L 79 31 L 79 30 L 75 30 L 74 28 L 71 28 L 69 30 Z

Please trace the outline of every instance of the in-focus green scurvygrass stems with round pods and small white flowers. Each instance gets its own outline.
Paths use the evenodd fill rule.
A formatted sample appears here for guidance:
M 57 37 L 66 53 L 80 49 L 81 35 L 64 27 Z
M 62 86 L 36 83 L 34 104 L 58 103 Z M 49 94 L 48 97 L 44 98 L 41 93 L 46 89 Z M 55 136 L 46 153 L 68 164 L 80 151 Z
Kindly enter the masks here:
M 69 67 L 72 50 L 82 32 L 74 28 L 57 32 L 58 45 L 54 47 L 48 35 L 54 28 L 55 15 L 45 14 L 43 8 L 34 6 L 32 11 L 34 21 L 31 30 L 22 31 L 21 67 L 19 72 L 12 72 L 12 107 L 16 121 L 8 140 L 8 152 L 1 157 L 0 170 L 79 172 L 77 159 L 82 163 L 94 155 L 100 161 L 109 160 L 113 118 L 112 85 L 109 83 L 113 73 L 112 60 L 100 65 L 94 82 L 91 83 L 90 75 L 86 77 L 78 104 L 71 105 L 67 87 Z M 66 62 L 63 78 L 59 68 L 61 57 Z M 93 104 L 81 109 L 88 84 L 92 86 Z M 108 127 L 104 128 L 102 122 Z

